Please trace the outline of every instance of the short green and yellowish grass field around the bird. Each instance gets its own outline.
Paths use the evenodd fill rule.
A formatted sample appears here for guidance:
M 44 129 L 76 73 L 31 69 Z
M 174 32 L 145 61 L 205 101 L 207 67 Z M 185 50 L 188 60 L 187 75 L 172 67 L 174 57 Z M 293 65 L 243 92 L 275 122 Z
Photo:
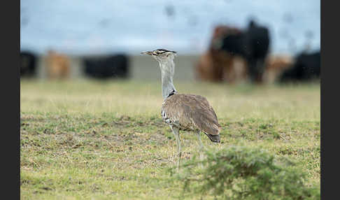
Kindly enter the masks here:
M 205 96 L 218 115 L 222 142 L 204 136 L 206 147 L 260 147 L 295 160 L 309 174 L 306 184 L 320 185 L 320 84 L 175 85 Z M 167 171 L 176 141 L 161 106 L 158 81 L 22 80 L 21 198 L 178 198 L 183 183 Z M 197 138 L 181 137 L 185 161 L 197 155 Z

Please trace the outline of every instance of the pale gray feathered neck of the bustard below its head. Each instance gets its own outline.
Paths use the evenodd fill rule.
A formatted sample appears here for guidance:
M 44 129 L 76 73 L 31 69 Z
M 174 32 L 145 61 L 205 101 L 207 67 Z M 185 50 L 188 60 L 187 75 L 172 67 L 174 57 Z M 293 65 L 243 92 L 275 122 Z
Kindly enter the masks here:
M 177 93 L 175 86 L 173 86 L 175 63 L 172 59 L 160 62 L 160 69 L 162 73 L 162 96 L 163 99 L 167 99 L 167 97 Z

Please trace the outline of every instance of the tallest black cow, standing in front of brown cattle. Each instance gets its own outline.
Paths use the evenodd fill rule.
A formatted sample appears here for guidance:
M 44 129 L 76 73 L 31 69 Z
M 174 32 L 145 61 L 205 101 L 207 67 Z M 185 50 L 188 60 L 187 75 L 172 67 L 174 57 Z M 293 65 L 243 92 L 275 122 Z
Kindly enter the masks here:
M 230 55 L 240 55 L 248 64 L 250 80 L 261 83 L 264 73 L 264 61 L 269 52 L 269 30 L 250 21 L 248 29 L 222 38 L 222 43 L 215 45 L 219 50 Z

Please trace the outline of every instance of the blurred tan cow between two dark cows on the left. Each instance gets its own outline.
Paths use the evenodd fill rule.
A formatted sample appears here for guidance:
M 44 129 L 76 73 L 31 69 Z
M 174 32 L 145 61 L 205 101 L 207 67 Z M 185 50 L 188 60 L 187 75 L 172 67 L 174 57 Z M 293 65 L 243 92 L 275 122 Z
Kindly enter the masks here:
M 66 55 L 59 54 L 53 50 L 48 51 L 46 59 L 48 78 L 68 78 L 70 73 L 70 61 Z

